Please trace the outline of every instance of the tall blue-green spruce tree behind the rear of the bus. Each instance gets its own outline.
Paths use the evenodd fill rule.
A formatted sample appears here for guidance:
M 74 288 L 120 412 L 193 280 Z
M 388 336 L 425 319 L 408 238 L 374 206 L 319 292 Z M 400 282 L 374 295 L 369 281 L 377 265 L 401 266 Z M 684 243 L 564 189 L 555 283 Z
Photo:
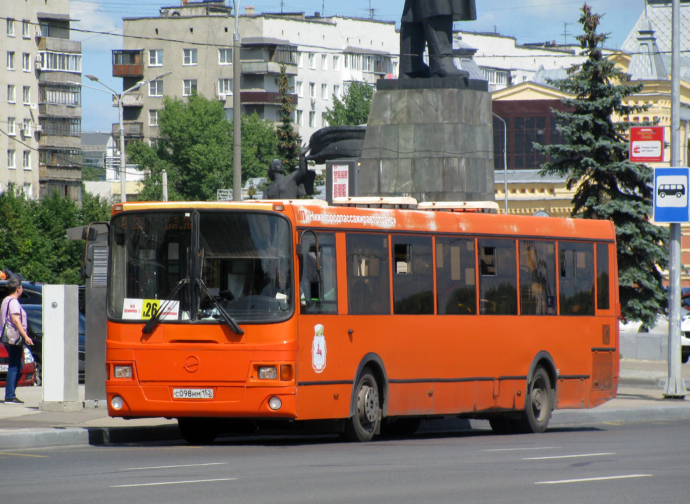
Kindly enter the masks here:
M 553 84 L 574 98 L 564 98 L 570 112 L 553 111 L 562 144 L 540 146 L 553 161 L 542 174 L 567 175 L 575 188 L 573 217 L 609 219 L 618 242 L 618 280 L 622 316 L 653 324 L 666 305 L 662 274 L 668 264 L 667 229 L 649 222 L 652 208 L 652 173 L 649 167 L 628 161 L 625 137 L 629 122 L 613 122 L 647 110 L 625 106 L 625 97 L 640 93 L 643 84 L 631 84 L 629 75 L 602 55 L 607 35 L 596 32 L 601 16 L 586 4 L 578 40 L 586 61 L 569 69 L 569 77 Z

